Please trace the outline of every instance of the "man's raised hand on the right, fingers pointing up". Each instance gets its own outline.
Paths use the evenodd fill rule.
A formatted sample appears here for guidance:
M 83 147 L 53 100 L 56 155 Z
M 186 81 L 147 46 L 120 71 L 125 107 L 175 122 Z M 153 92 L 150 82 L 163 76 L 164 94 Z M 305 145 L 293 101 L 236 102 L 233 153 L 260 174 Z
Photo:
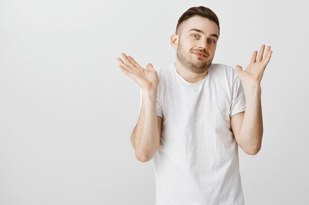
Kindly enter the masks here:
M 254 51 L 251 61 L 245 70 L 242 70 L 240 65 L 236 65 L 237 75 L 241 82 L 246 85 L 250 84 L 260 84 L 265 68 L 270 61 L 272 51 L 270 51 L 270 46 L 267 47 L 266 54 L 263 57 L 265 45 L 263 44 L 260 48 L 260 53 Z

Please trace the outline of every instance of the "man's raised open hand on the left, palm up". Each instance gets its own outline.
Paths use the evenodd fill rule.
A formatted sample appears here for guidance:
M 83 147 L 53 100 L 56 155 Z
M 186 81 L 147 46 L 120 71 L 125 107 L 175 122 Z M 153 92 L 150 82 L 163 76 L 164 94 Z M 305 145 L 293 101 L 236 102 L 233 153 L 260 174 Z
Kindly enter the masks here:
M 142 89 L 157 90 L 159 85 L 159 77 L 151 63 L 147 64 L 147 69 L 141 67 L 132 57 L 121 53 L 122 59 L 117 58 L 119 68 L 130 78 L 132 78 Z

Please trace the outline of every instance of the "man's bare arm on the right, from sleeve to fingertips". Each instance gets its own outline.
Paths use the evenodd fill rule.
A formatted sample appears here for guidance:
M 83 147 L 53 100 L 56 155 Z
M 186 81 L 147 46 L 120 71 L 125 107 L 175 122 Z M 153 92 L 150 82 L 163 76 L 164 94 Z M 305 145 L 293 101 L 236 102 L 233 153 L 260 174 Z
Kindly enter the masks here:
M 264 48 L 265 45 L 262 45 L 258 57 L 257 51 L 254 51 L 250 64 L 245 70 L 236 65 L 237 75 L 245 87 L 246 106 L 245 112 L 231 117 L 231 128 L 237 144 L 250 155 L 257 154 L 262 145 L 263 118 L 260 85 L 272 53 L 268 46 L 263 58 Z

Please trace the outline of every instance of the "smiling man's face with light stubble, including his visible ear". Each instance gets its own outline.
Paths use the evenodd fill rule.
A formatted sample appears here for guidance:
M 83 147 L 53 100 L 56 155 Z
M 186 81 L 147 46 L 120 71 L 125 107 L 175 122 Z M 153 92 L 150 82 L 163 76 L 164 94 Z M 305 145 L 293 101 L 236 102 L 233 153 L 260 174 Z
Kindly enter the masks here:
M 172 45 L 180 63 L 195 73 L 207 70 L 217 48 L 219 29 L 215 22 L 193 16 L 180 25 L 180 36 L 172 36 Z

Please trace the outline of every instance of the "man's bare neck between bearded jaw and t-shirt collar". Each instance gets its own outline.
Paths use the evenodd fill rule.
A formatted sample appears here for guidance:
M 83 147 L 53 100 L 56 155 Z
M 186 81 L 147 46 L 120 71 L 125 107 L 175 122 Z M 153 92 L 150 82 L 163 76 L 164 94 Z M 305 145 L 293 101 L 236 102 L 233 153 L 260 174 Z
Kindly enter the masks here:
M 195 73 L 192 70 L 190 70 L 189 68 L 187 68 L 186 66 L 184 66 L 182 63 L 180 63 L 177 59 L 176 59 L 174 64 L 175 64 L 175 68 L 176 68 L 177 73 L 189 83 L 197 83 L 197 82 L 203 80 L 206 77 L 206 75 L 208 73 L 208 69 L 209 69 L 209 67 L 208 67 L 202 73 Z

